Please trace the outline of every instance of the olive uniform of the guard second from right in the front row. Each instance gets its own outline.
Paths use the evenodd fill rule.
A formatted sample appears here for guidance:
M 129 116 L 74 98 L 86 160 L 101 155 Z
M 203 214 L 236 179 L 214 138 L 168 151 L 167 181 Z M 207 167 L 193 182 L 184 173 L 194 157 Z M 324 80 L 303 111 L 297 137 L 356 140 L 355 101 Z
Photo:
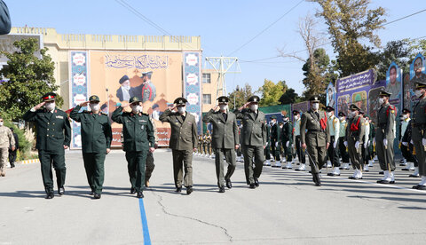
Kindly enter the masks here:
M 424 111 L 423 111 L 424 114 Z M 377 128 L 375 130 L 375 152 L 379 159 L 380 168 L 382 170 L 395 170 L 395 162 L 393 161 L 393 140 L 395 139 L 395 117 L 396 109 L 389 103 L 380 107 L 377 112 Z M 388 140 L 388 146 L 384 146 L 383 139 Z

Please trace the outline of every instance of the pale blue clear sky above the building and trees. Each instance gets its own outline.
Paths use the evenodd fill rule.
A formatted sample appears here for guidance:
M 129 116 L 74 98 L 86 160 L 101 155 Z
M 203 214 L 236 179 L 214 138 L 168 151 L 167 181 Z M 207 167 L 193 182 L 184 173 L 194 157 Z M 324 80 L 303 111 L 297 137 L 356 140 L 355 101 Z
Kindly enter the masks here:
M 159 28 L 124 8 L 125 1 Z M 299 21 L 314 15 L 319 4 L 300 0 L 4 0 L 13 27 L 55 28 L 60 34 L 201 36 L 203 57 L 232 56 L 239 59 L 241 73 L 226 75 L 227 91 L 248 83 L 256 91 L 264 79 L 285 80 L 299 95 L 304 91 L 303 62 L 276 58 L 280 53 L 307 52 L 297 33 Z M 408 4 L 406 4 L 408 3 Z M 372 0 L 371 8 L 386 10 L 388 22 L 426 9 L 425 0 Z M 383 45 L 393 40 L 426 36 L 426 12 L 386 25 L 377 34 Z M 277 21 L 278 20 L 278 21 Z M 319 31 L 329 42 L 327 26 L 318 19 Z M 251 42 L 249 42 L 252 40 Z M 249 43 L 248 43 L 249 42 Z M 247 44 L 246 44 L 247 43 Z M 242 47 L 241 47 L 242 46 Z M 323 46 L 330 58 L 331 45 Z M 264 60 L 258 60 L 264 59 Z M 247 62 L 253 61 L 254 62 Z M 208 67 L 203 65 L 203 67 Z

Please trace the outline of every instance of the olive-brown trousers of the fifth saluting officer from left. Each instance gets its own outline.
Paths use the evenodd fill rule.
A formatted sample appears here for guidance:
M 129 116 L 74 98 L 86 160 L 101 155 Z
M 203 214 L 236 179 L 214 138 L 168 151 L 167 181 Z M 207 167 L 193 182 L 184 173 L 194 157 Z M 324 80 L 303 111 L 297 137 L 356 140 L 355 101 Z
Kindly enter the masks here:
M 216 176 L 217 176 L 217 186 L 225 186 L 225 179 L 230 179 L 233 176 L 235 167 L 235 151 L 233 149 L 225 148 L 216 148 L 215 149 L 215 163 L 216 163 Z M 228 162 L 228 170 L 224 170 L 224 155 L 225 160 Z

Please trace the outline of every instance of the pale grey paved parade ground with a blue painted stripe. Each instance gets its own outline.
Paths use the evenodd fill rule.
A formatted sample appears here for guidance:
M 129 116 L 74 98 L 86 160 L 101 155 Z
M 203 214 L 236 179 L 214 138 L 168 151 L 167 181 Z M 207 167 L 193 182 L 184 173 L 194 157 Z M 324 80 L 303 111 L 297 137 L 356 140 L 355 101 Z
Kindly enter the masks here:
M 106 156 L 100 200 L 91 199 L 82 155 L 67 153 L 66 194 L 44 199 L 39 163 L 17 164 L 0 178 L 0 244 L 424 244 L 426 192 L 398 167 L 396 185 L 264 167 L 248 189 L 237 163 L 233 189 L 217 193 L 214 160 L 193 158 L 194 192 L 175 193 L 171 152 L 154 153 L 151 187 L 130 195 L 124 153 Z

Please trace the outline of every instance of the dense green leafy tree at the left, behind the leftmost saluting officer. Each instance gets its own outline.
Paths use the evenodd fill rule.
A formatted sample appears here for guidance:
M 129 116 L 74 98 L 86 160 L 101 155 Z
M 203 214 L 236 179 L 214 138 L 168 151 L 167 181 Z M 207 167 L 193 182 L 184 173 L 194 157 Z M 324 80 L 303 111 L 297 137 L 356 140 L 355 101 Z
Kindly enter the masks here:
M 1 51 L 9 60 L 7 66 L 0 70 L 1 75 L 8 79 L 0 85 L 0 110 L 3 116 L 17 119 L 40 103 L 44 93 L 56 91 L 58 86 L 53 77 L 54 63 L 46 54 L 47 48 L 40 50 L 41 59 L 38 59 L 35 56 L 38 51 L 35 38 L 22 39 L 13 45 L 17 51 Z M 56 101 L 59 107 L 62 102 L 60 97 Z

